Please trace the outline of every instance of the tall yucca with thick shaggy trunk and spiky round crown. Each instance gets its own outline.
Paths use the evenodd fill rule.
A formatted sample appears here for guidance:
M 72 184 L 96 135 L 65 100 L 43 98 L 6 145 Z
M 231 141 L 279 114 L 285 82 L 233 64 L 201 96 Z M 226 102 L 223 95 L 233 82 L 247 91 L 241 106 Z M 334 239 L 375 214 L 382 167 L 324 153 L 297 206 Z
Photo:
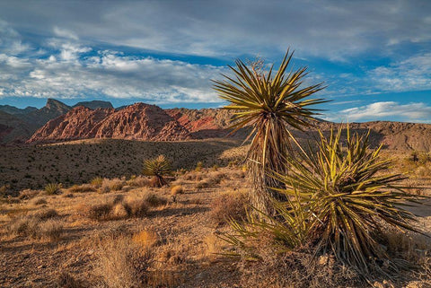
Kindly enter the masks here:
M 263 213 L 274 212 L 271 198 L 280 195 L 267 187 L 278 187 L 279 183 L 267 176 L 268 170 L 282 172 L 286 165 L 282 155 L 291 151 L 289 129 L 310 126 L 309 120 L 316 113 L 310 106 L 322 103 L 321 99 L 308 96 L 323 89 L 321 83 L 302 87 L 306 67 L 286 73 L 293 53 L 286 52 L 276 74 L 273 66 L 268 73 L 264 69 L 253 69 L 241 60 L 236 67 L 229 66 L 234 77 L 224 76 L 224 81 L 214 81 L 215 90 L 223 100 L 230 102 L 224 109 L 234 110 L 233 132 L 251 126 L 247 139 L 251 148 L 247 155 L 252 185 L 251 204 Z

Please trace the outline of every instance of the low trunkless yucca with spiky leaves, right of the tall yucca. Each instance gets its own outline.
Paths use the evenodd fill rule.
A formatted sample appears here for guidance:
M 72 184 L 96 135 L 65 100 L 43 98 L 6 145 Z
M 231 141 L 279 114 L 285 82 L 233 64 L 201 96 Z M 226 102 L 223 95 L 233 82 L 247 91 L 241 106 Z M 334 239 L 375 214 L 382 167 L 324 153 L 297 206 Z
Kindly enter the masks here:
M 402 205 L 417 202 L 418 196 L 397 186 L 402 174 L 384 173 L 391 161 L 379 156 L 382 146 L 370 150 L 369 132 L 350 135 L 347 126 L 345 146 L 340 137 L 341 127 L 328 138 L 320 134 L 317 150 L 289 159 L 289 172 L 275 177 L 286 185 L 278 191 L 299 199 L 301 209 L 312 215 L 309 239 L 317 250 L 366 274 L 374 259 L 389 259 L 378 240 L 383 223 L 417 231 L 409 223 L 413 214 Z

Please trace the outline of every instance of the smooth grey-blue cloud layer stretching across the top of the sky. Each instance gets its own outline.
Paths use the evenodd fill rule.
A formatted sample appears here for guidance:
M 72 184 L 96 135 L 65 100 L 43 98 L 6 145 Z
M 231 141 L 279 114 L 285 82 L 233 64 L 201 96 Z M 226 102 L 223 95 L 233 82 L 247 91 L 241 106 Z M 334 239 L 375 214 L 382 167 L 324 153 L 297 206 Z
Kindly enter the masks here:
M 36 34 L 170 53 L 268 56 L 292 46 L 298 56 L 346 60 L 427 43 L 430 9 L 414 0 L 19 1 L 0 2 L 0 17 Z

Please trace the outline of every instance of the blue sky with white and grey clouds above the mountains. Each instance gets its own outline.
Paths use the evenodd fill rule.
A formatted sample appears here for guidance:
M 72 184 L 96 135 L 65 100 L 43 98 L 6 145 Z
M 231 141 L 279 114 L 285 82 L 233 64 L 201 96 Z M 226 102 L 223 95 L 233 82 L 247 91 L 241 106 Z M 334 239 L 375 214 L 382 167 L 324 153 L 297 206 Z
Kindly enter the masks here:
M 431 123 L 431 1 L 0 1 L 0 105 L 225 103 L 234 60 L 307 66 L 320 118 Z

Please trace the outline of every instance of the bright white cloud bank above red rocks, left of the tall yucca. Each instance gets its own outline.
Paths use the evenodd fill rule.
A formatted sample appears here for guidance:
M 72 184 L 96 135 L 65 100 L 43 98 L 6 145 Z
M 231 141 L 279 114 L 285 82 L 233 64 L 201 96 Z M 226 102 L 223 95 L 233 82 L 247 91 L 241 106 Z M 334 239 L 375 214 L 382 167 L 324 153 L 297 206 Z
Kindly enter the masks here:
M 56 55 L 17 58 L 0 54 L 0 88 L 8 96 L 136 98 L 146 102 L 220 102 L 209 79 L 224 68 L 153 57 L 129 57 L 51 39 Z M 53 44 L 54 43 L 54 44 Z M 8 70 L 5 68 L 9 67 Z

